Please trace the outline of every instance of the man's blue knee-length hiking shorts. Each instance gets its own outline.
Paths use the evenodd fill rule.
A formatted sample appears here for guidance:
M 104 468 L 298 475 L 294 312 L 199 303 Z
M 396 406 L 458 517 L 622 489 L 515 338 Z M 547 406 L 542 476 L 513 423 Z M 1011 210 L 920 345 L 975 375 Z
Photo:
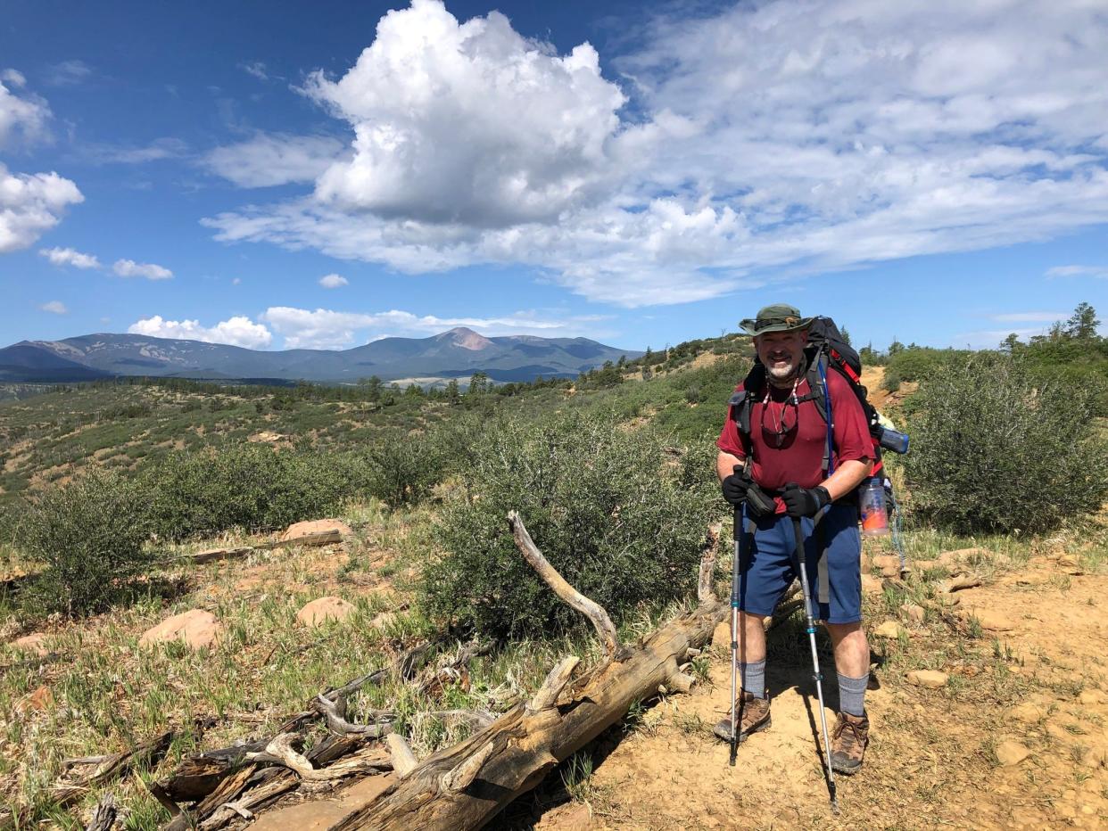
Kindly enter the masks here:
M 856 505 L 832 505 L 813 533 L 812 520 L 801 521 L 808 587 L 818 599 L 812 616 L 831 624 L 862 619 L 862 537 Z M 747 517 L 740 543 L 739 608 L 771 615 L 800 574 L 792 519 L 784 514 Z

